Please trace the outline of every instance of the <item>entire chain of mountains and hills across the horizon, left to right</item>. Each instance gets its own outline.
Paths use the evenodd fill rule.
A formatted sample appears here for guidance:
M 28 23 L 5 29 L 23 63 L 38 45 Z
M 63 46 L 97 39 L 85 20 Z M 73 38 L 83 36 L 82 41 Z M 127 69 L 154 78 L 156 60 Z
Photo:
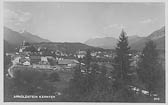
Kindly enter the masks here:
M 148 40 L 153 40 L 156 43 L 157 49 L 165 49 L 165 26 L 152 32 L 147 37 L 139 37 L 137 35 L 129 36 L 128 42 L 131 49 L 142 50 L 145 46 L 145 43 Z M 104 38 L 94 38 L 89 39 L 85 43 L 56 43 L 51 42 L 47 39 L 43 39 L 37 35 L 33 35 L 27 31 L 22 33 L 13 31 L 7 27 L 4 27 L 4 49 L 6 52 L 14 51 L 14 49 L 19 46 L 23 41 L 34 43 L 38 47 L 47 47 L 54 50 L 67 51 L 66 49 L 75 51 L 75 50 L 84 50 L 89 48 L 94 49 L 115 49 L 118 40 L 113 37 L 104 37 Z

